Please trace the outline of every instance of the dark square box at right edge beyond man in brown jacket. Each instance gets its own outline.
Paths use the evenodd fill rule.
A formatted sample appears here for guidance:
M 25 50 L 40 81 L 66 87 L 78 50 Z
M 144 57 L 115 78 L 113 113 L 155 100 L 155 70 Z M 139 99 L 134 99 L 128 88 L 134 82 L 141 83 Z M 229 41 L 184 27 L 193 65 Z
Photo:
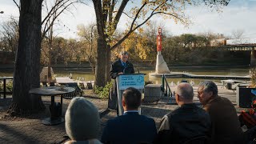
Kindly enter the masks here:
M 256 97 L 251 93 L 251 90 L 256 90 L 256 88 L 246 88 L 245 86 L 238 86 L 236 101 L 237 105 L 242 108 L 250 108 L 252 98 Z

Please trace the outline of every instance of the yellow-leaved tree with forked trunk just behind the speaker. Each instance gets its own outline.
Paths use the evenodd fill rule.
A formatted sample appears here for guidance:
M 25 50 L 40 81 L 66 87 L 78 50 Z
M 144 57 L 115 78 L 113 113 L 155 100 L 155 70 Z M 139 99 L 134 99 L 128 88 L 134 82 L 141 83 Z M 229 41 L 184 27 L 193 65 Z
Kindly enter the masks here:
M 198 4 L 202 1 L 142 0 L 138 2 L 122 0 L 118 2 L 118 0 L 92 0 L 92 2 L 94 3 L 98 29 L 95 84 L 105 86 L 106 81 L 110 81 L 110 50 L 117 48 L 134 30 L 143 26 L 155 14 L 162 14 L 165 18 L 173 18 L 175 22 L 188 23 L 188 18 L 184 13 L 186 5 L 192 4 L 192 2 Z M 130 6 L 128 6 L 128 2 L 130 2 Z M 222 6 L 226 6 L 230 0 L 204 0 L 203 2 L 210 7 L 216 6 L 219 10 Z M 128 30 L 118 42 L 112 43 L 112 37 L 117 30 L 122 14 L 126 14 L 130 18 L 127 23 Z

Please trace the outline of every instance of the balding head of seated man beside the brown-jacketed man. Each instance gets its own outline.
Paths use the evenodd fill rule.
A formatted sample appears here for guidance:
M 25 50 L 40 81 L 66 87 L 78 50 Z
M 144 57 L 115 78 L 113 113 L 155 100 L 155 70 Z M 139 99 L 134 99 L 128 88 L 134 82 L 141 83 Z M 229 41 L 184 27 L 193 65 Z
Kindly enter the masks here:
M 186 82 L 178 84 L 175 91 L 175 99 L 179 106 L 186 103 L 193 103 L 194 90 L 193 87 Z

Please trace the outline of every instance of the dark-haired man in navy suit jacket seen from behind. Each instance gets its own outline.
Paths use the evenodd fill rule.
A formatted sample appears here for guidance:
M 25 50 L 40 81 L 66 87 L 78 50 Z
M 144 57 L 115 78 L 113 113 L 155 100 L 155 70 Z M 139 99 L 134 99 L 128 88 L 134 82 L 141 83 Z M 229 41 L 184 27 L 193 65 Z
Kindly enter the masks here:
M 106 122 L 102 133 L 103 143 L 152 143 L 156 134 L 154 119 L 138 114 L 142 103 L 139 90 L 130 87 L 122 94 L 124 114 Z

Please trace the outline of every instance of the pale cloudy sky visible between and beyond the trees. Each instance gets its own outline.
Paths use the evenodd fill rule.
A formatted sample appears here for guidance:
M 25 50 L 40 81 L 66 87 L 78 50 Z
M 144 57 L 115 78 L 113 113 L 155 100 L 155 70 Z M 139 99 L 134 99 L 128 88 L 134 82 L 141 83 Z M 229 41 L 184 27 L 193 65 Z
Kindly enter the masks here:
M 16 18 L 19 16 L 18 8 L 11 0 L 0 0 L 0 11 L 4 11 L 4 14 L 0 14 L 0 25 L 10 16 Z M 73 14 L 65 13 L 59 18 L 56 35 L 64 38 L 78 38 L 77 26 L 88 25 L 95 21 L 94 7 L 91 4 L 89 6 L 80 4 L 76 9 L 71 8 L 71 11 Z M 188 27 L 175 23 L 171 19 L 153 17 L 153 20 L 164 23 L 166 31 L 172 35 L 211 32 L 232 37 L 233 31 L 242 30 L 242 38 L 256 38 L 256 0 L 231 0 L 222 13 L 211 10 L 207 6 L 190 6 L 186 14 L 192 22 Z M 118 29 L 125 29 L 126 19 L 125 16 L 121 18 Z

